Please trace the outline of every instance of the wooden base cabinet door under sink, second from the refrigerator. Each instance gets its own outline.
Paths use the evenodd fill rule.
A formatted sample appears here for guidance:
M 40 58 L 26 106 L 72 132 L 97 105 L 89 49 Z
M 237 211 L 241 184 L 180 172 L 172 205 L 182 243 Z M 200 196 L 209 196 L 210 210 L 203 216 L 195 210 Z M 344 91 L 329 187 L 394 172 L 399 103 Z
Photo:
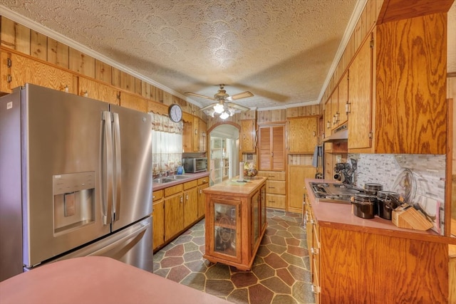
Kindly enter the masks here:
M 165 198 L 165 241 L 184 229 L 184 197 L 182 193 Z

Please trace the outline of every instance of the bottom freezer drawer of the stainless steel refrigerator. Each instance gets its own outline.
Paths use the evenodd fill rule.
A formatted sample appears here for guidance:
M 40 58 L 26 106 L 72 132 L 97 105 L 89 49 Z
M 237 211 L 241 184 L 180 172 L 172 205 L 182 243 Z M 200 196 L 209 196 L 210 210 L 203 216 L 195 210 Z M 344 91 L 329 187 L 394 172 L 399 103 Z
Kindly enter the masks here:
M 80 256 L 108 256 L 145 271 L 153 272 L 152 217 L 142 219 L 132 226 L 116 231 L 104 239 L 61 256 L 55 261 Z

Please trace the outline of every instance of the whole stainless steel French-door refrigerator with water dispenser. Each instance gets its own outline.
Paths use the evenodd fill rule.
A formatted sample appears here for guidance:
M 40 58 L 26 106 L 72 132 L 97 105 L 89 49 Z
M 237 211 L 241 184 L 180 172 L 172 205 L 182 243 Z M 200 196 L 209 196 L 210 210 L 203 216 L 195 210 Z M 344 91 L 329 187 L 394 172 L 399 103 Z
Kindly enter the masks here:
M 152 271 L 147 113 L 26 84 L 0 98 L 0 281 L 74 256 Z

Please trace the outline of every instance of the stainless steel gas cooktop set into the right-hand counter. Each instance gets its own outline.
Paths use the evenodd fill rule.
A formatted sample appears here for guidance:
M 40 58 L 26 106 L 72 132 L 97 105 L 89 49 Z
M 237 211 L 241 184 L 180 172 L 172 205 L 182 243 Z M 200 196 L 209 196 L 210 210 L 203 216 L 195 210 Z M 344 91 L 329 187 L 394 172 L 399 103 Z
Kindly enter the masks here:
M 351 196 L 364 192 L 353 184 L 311 182 L 310 186 L 316 201 L 328 203 L 351 204 Z

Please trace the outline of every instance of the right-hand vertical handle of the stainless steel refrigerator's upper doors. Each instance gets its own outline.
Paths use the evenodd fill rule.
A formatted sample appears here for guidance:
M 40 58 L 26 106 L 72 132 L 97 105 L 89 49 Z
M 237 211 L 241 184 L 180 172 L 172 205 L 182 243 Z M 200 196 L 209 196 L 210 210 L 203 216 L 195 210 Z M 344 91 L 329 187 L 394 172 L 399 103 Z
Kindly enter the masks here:
M 113 134 L 114 134 L 114 153 L 115 153 L 115 174 L 114 174 L 114 210 L 113 221 L 120 219 L 120 190 L 122 189 L 122 155 L 120 154 L 120 123 L 118 113 L 113 113 Z

